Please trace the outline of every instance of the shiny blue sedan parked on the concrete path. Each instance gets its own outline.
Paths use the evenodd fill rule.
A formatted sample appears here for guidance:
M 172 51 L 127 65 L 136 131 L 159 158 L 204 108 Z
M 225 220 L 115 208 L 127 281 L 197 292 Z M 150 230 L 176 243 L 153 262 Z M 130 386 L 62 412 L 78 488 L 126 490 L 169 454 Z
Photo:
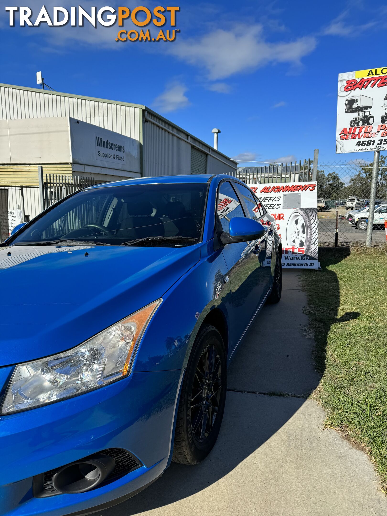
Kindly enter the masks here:
M 282 246 L 227 175 L 79 190 L 0 245 L 0 514 L 88 514 L 222 422 L 227 366 L 281 297 Z

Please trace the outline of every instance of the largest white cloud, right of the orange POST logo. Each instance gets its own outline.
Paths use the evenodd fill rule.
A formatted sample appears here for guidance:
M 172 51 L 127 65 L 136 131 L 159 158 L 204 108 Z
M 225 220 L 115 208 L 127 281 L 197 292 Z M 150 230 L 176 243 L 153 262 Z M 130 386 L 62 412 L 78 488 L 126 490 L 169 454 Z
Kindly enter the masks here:
M 300 65 L 301 58 L 315 47 L 316 40 L 311 36 L 269 43 L 264 39 L 262 25 L 239 24 L 230 30 L 213 30 L 199 39 L 181 40 L 170 45 L 168 52 L 190 65 L 205 68 L 208 78 L 217 80 L 268 62 Z

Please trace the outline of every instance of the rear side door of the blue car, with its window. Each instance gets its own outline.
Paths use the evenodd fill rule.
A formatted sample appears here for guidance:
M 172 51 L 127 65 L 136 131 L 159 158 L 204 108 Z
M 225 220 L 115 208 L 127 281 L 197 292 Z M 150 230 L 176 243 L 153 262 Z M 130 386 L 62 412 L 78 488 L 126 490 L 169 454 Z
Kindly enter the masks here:
M 250 218 L 261 222 L 266 229 L 266 234 L 259 241 L 257 241 L 258 248 L 256 250 L 259 256 L 260 262 L 260 275 L 259 280 L 261 283 L 261 298 L 267 294 L 268 289 L 271 286 L 271 249 L 273 243 L 273 230 L 271 228 L 271 221 L 264 217 L 263 207 L 257 203 L 253 192 L 248 186 L 241 185 L 240 183 L 234 183 L 237 192 L 246 206 L 247 214 Z

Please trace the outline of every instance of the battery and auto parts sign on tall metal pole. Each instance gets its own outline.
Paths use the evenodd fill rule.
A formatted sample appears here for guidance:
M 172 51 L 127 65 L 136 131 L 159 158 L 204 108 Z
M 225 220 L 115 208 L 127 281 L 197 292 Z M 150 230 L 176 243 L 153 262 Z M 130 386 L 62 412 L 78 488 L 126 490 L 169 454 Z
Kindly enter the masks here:
M 387 150 L 387 67 L 338 74 L 336 153 Z

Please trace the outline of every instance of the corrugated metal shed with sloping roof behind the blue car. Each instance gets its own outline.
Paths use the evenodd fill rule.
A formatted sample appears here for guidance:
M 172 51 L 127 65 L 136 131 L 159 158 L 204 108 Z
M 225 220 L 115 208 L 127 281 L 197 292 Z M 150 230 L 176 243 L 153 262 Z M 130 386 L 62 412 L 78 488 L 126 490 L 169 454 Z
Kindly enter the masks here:
M 144 105 L 0 84 L 0 120 L 47 117 L 71 117 L 137 140 L 143 176 L 233 173 L 237 168 L 228 156 Z M 73 163 L 40 165 L 47 173 L 86 173 Z M 9 156 L 0 156 L 0 184 L 36 185 L 36 169 L 31 163 L 10 163 Z M 135 177 L 138 172 L 120 175 Z

